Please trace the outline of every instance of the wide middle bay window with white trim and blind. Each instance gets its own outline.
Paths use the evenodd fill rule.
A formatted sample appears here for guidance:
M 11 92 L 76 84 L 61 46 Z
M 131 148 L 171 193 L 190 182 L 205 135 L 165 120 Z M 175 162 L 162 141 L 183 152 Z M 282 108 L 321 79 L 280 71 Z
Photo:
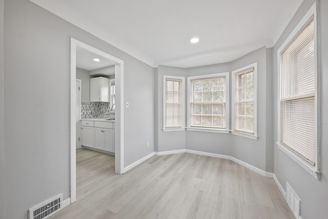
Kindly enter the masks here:
M 229 133 L 229 72 L 188 77 L 187 130 Z

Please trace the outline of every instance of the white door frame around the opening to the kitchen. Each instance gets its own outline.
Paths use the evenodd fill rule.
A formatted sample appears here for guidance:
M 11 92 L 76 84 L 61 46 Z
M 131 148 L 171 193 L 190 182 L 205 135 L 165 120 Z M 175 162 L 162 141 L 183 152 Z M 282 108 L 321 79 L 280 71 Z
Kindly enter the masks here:
M 76 201 L 76 130 L 75 130 L 75 79 L 76 48 L 81 48 L 110 59 L 115 63 L 115 172 L 124 173 L 124 61 L 71 37 L 71 94 L 70 94 L 70 199 Z

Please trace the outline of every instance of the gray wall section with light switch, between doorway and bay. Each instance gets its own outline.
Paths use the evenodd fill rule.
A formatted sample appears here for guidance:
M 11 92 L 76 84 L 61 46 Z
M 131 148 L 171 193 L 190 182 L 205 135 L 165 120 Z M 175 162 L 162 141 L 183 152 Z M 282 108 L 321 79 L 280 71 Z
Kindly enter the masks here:
M 118 58 L 124 60 L 124 95 L 130 103 L 124 118 L 126 167 L 154 152 L 154 68 L 131 56 Z

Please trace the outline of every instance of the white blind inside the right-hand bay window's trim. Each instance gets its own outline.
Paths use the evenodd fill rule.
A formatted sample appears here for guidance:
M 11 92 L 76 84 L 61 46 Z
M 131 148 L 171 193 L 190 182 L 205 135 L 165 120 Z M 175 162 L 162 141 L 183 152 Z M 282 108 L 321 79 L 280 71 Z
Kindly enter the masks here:
M 254 68 L 235 74 L 234 131 L 254 134 Z

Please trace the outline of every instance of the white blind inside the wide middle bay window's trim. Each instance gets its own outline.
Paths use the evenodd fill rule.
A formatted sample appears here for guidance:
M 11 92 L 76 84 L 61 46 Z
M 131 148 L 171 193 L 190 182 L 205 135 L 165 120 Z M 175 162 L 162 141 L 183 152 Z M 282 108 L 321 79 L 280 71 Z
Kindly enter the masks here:
M 226 76 L 191 81 L 191 127 L 226 128 Z

